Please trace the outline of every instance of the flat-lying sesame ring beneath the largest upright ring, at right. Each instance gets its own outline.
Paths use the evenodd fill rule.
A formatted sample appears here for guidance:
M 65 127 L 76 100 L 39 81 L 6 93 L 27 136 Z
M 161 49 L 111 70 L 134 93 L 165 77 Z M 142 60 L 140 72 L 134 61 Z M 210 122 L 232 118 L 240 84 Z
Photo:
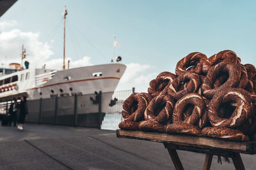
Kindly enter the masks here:
M 205 127 L 202 130 L 202 135 L 230 141 L 249 141 L 248 136 L 244 135 L 243 132 L 228 127 Z

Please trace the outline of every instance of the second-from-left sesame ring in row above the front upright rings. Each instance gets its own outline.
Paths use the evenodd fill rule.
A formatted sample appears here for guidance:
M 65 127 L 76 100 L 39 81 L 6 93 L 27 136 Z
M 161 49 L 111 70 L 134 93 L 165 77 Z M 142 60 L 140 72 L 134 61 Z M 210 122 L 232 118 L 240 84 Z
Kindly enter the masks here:
M 186 81 L 188 81 L 188 86 L 186 87 L 186 89 L 179 91 L 178 89 L 180 85 L 182 85 L 182 83 L 186 83 Z M 169 83 L 167 87 L 167 93 L 170 96 L 173 96 L 173 98 L 177 101 L 186 94 L 195 93 L 196 90 L 199 88 L 200 83 L 200 76 L 196 73 L 187 72 L 184 74 L 180 74 L 180 76 L 175 78 L 172 83 Z

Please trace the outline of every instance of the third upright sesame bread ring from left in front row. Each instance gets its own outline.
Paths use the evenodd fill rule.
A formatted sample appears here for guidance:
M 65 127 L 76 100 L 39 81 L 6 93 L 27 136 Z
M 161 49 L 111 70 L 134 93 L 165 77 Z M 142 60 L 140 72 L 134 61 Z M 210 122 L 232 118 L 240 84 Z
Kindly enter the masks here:
M 193 111 L 191 112 L 190 116 L 186 116 L 184 119 L 184 109 L 188 105 L 193 105 Z M 196 125 L 198 124 L 200 118 L 202 117 L 205 111 L 205 103 L 202 96 L 196 93 L 187 94 L 186 96 L 182 97 L 177 101 L 174 106 L 173 114 L 172 114 L 172 121 L 174 122 L 185 122 L 187 124 Z

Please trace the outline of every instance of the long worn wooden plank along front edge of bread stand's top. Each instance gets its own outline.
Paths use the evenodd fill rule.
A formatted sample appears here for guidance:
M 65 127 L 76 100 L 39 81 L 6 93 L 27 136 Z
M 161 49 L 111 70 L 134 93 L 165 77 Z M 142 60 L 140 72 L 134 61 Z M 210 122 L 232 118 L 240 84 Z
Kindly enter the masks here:
M 210 147 L 231 150 L 232 152 L 241 152 L 254 154 L 253 143 L 250 142 L 236 142 L 226 141 L 223 139 L 205 138 L 202 136 L 185 136 L 179 134 L 163 134 L 157 132 L 143 132 L 143 131 L 127 131 L 116 130 L 118 138 L 142 139 L 147 141 L 154 141 L 160 143 L 170 143 L 175 145 L 184 145 L 191 148 Z

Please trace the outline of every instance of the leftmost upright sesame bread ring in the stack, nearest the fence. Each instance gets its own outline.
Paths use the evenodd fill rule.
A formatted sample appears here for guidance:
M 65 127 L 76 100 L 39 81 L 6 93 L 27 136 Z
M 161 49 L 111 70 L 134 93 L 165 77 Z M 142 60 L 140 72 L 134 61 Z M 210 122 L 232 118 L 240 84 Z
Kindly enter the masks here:
M 147 97 L 140 93 L 133 93 L 123 103 L 122 116 L 124 120 L 140 122 L 148 105 Z

